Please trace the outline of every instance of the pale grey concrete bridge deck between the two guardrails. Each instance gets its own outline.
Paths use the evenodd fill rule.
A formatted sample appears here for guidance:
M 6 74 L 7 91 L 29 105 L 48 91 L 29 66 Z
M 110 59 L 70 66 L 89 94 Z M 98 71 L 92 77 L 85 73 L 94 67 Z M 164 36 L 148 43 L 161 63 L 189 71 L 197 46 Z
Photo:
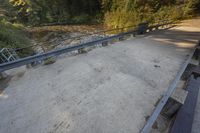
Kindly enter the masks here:
M 12 70 L 0 132 L 137 133 L 199 36 L 198 28 L 175 27 Z

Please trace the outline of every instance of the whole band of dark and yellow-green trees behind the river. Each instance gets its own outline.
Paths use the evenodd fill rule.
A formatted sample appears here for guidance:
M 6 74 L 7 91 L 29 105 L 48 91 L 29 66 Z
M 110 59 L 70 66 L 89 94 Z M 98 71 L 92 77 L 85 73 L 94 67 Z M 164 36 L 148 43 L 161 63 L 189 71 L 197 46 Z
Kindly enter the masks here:
M 1 1 L 6 8 L 9 7 L 8 16 L 12 22 L 28 25 L 102 22 L 105 16 L 106 25 L 120 27 L 124 24 L 135 25 L 142 21 L 153 23 L 163 18 L 182 19 L 200 11 L 200 0 L 9 0 L 9 3 L 8 0 Z

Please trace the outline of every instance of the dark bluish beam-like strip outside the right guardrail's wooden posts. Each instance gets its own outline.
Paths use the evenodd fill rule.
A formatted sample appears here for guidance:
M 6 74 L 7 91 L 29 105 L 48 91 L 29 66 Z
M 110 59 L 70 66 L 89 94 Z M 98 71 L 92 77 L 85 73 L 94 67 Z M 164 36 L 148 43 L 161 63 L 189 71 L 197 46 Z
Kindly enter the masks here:
M 185 104 L 181 107 L 176 116 L 176 120 L 170 133 L 190 133 L 192 131 L 199 86 L 200 78 L 194 79 L 191 77 L 186 87 L 188 96 L 186 98 Z

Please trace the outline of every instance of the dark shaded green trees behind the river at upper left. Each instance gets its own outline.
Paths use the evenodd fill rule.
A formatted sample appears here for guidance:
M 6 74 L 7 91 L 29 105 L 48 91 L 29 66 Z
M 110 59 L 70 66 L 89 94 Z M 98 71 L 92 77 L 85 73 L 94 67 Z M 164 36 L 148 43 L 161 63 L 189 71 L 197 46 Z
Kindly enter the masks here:
M 16 20 L 37 25 L 48 22 L 89 22 L 100 12 L 99 0 L 10 0 Z

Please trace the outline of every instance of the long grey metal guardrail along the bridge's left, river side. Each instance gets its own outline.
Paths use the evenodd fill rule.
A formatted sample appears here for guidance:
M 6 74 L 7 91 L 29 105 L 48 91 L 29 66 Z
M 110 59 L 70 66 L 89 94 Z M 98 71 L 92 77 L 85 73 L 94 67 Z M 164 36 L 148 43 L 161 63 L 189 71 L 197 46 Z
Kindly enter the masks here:
M 135 30 L 128 31 L 128 32 L 125 32 L 125 33 L 120 33 L 120 34 L 113 35 L 113 36 L 110 36 L 110 37 L 105 37 L 103 39 L 99 39 L 99 40 L 96 40 L 96 41 L 87 42 L 87 43 L 84 43 L 84 44 L 80 44 L 80 45 L 72 46 L 72 47 L 68 47 L 68 48 L 53 50 L 53 51 L 49 51 L 47 53 L 33 55 L 33 56 L 18 59 L 16 61 L 3 63 L 3 64 L 0 64 L 0 73 L 4 72 L 6 70 L 9 70 L 9 69 L 13 69 L 13 68 L 20 67 L 20 66 L 23 66 L 23 65 L 26 65 L 26 64 L 30 64 L 32 62 L 41 61 L 41 60 L 47 59 L 49 57 L 54 57 L 54 56 L 58 56 L 58 55 L 61 55 L 61 54 L 64 54 L 64 53 L 69 53 L 69 52 L 72 52 L 72 51 L 80 50 L 80 49 L 83 49 L 83 48 L 86 48 L 86 47 L 91 47 L 91 46 L 95 46 L 95 45 L 98 45 L 98 44 L 107 43 L 109 41 L 112 41 L 113 39 L 118 39 L 118 38 L 120 39 L 120 38 L 122 38 L 126 35 L 131 35 L 131 34 L 136 35 L 138 32 L 145 33 L 147 30 L 150 30 L 150 29 L 153 29 L 153 28 L 158 28 L 158 27 L 161 27 L 161 26 L 164 26 L 164 25 L 170 25 L 170 24 L 172 24 L 172 22 L 168 22 L 168 23 L 160 24 L 160 25 L 155 25 L 155 26 L 151 26 L 151 27 L 146 27 L 146 28 L 138 27 Z

